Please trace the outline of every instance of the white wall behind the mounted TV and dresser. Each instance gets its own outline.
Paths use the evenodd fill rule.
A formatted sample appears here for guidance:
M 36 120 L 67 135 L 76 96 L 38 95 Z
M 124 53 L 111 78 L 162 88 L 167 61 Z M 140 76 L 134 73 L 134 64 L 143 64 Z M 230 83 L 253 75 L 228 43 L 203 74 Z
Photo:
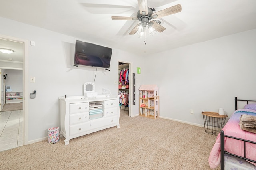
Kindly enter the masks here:
M 30 143 L 38 141 L 47 136 L 48 128 L 60 127 L 58 97 L 83 95 L 83 85 L 85 82 L 94 81 L 96 68 L 72 66 L 76 40 L 74 37 L 5 18 L 0 18 L 0 22 L 0 34 L 25 39 L 28 42 L 32 40 L 36 43 L 36 46 L 28 45 L 28 60 L 25 61 L 28 62 L 26 79 L 30 80 L 32 76 L 36 80 L 36 83 L 25 82 L 25 86 L 28 86 L 27 93 L 36 90 L 36 98 L 25 99 L 28 103 L 25 114 L 28 114 L 28 141 Z M 90 43 L 108 47 L 108 44 Z M 118 94 L 118 84 L 114 84 L 114 81 L 118 80 L 118 60 L 131 62 L 134 68 L 131 73 L 136 73 L 137 63 L 141 63 L 140 57 L 113 49 L 110 71 L 98 68 L 96 74 L 95 91 L 99 94 L 102 93 L 102 88 L 110 89 L 113 95 Z M 142 79 L 136 81 L 137 90 L 140 84 Z M 132 108 L 137 111 L 137 107 L 138 101 Z

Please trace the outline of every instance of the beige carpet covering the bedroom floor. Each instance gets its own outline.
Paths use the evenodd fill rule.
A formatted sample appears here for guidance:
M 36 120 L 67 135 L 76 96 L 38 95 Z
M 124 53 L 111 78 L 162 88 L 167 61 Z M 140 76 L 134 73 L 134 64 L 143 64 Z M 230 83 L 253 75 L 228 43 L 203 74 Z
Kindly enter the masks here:
M 215 140 L 203 127 L 121 111 L 120 128 L 72 139 L 67 146 L 62 137 L 56 144 L 45 140 L 0 152 L 0 169 L 210 170 Z

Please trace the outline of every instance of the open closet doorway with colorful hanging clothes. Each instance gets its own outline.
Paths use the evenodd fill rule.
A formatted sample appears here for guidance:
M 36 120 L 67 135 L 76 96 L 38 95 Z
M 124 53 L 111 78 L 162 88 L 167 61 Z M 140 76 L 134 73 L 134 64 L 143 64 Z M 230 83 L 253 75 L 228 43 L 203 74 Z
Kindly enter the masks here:
M 132 64 L 127 61 L 118 61 L 118 95 L 120 113 L 132 116 Z

